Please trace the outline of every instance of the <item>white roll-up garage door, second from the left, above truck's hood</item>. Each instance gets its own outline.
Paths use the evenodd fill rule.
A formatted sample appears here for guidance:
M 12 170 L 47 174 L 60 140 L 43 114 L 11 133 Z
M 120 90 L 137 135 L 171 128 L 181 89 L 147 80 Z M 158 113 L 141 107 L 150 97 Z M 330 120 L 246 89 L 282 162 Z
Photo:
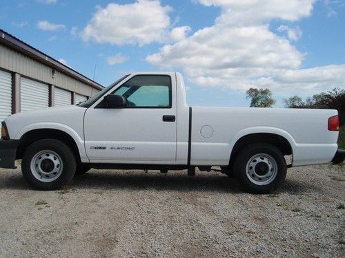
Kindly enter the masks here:
M 41 109 L 48 105 L 48 85 L 21 77 L 21 111 Z

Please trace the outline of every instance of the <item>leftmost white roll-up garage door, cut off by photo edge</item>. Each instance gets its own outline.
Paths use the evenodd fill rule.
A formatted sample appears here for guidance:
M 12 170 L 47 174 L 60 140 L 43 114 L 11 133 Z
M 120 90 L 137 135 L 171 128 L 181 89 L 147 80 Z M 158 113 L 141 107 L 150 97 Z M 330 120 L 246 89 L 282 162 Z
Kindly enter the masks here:
M 12 113 L 12 76 L 0 70 L 0 122 Z

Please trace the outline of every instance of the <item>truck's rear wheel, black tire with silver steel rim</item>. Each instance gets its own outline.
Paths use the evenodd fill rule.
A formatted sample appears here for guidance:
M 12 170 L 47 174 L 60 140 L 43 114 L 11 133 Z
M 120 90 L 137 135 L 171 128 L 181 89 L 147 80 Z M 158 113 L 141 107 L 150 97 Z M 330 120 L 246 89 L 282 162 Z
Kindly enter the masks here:
M 250 144 L 241 151 L 234 164 L 235 178 L 249 193 L 270 193 L 286 178 L 286 160 L 275 146 Z

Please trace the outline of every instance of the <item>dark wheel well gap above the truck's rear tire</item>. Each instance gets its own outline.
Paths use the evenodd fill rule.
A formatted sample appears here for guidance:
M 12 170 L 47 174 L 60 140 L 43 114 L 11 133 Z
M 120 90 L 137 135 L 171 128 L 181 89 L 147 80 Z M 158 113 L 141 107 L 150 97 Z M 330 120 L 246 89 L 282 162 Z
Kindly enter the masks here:
M 229 164 L 233 164 L 237 154 L 242 151 L 242 149 L 246 148 L 248 144 L 255 142 L 272 144 L 273 146 L 277 147 L 277 149 L 279 149 L 283 155 L 293 154 L 290 142 L 288 142 L 288 140 L 286 140 L 286 138 L 283 136 L 279 136 L 274 133 L 252 133 L 237 140 L 235 146 L 233 147 L 233 151 L 231 151 Z

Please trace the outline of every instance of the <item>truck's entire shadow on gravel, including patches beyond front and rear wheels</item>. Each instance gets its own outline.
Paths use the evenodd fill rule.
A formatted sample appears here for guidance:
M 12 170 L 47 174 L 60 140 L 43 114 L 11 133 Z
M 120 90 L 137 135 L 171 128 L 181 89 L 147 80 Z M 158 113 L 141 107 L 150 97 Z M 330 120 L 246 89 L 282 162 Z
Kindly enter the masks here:
M 28 189 L 21 173 L 12 173 L 6 177 L 0 175 L 0 189 Z M 244 193 L 242 187 L 233 178 L 218 173 L 201 173 L 188 177 L 185 173 L 132 173 L 92 170 L 84 175 L 75 175 L 70 186 L 72 189 L 131 189 L 156 191 L 214 191 L 221 193 Z M 286 180 L 275 193 L 311 193 L 318 191 L 306 182 Z

